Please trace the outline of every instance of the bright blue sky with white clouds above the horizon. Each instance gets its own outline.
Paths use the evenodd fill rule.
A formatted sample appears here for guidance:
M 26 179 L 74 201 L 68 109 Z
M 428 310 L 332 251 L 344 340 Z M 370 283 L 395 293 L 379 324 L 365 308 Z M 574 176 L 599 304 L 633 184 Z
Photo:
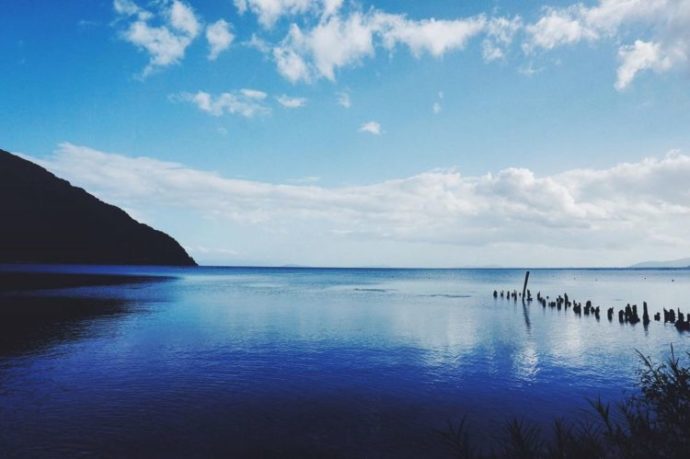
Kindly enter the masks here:
M 690 0 L 0 4 L 0 148 L 201 264 L 690 256 Z

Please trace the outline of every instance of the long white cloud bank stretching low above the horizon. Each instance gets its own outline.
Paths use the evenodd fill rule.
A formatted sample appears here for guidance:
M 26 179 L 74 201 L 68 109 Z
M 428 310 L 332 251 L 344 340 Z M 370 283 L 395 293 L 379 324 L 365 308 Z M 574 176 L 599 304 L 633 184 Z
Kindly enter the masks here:
M 690 250 L 690 157 L 677 152 L 543 177 L 524 168 L 481 176 L 433 170 L 333 188 L 225 178 L 69 143 L 30 159 L 135 211 L 153 206 L 221 222 L 290 222 L 288 231 L 299 222 L 318 224 L 329 237 L 374 241 Z

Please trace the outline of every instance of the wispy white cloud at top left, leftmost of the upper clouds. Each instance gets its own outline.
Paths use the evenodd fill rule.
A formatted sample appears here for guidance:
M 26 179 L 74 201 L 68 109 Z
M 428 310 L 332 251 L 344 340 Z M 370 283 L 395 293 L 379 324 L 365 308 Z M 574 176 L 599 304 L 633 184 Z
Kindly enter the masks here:
M 114 0 L 113 8 L 129 25 L 121 37 L 146 51 L 149 63 L 143 75 L 176 64 L 199 33 L 200 23 L 194 10 L 184 2 L 163 2 L 156 14 L 146 11 L 131 0 Z M 152 25 L 155 18 L 160 25 Z

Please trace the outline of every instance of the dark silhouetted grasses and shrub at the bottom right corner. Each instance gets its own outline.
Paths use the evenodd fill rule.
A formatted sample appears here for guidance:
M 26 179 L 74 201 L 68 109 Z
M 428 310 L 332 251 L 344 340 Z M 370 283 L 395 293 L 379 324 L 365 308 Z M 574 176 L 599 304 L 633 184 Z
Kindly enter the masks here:
M 688 458 L 690 365 L 673 348 L 661 364 L 638 354 L 639 393 L 615 406 L 591 400 L 582 421 L 555 420 L 544 432 L 513 420 L 488 451 L 472 442 L 464 419 L 438 434 L 457 458 Z

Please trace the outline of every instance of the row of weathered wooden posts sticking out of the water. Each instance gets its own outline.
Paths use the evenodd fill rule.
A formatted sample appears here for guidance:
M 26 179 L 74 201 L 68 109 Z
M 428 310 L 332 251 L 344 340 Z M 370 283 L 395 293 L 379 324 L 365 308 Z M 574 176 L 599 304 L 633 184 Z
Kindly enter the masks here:
M 501 290 L 500 292 L 498 290 L 494 290 L 494 298 L 505 298 L 508 300 L 512 298 L 513 301 L 517 301 L 518 298 L 520 298 L 523 302 L 531 303 L 533 299 L 532 292 L 530 292 L 530 290 L 527 288 L 528 281 L 529 271 L 527 271 L 525 274 L 525 282 L 522 287 L 522 293 L 519 293 L 517 290 Z M 573 312 L 578 316 L 584 313 L 586 316 L 593 315 L 597 320 L 600 318 L 599 316 L 601 313 L 601 308 L 599 306 L 594 307 L 592 306 L 592 302 L 587 300 L 583 307 L 581 302 L 579 303 L 575 300 L 571 301 L 567 293 L 564 293 L 563 296 L 558 295 L 555 300 L 550 300 L 548 296 L 544 297 L 541 295 L 541 292 L 537 292 L 537 302 L 539 302 L 543 308 L 548 306 L 550 308 L 556 308 L 559 311 L 561 309 L 567 311 L 572 307 Z M 606 310 L 606 316 L 609 322 L 613 321 L 614 312 L 615 310 L 612 307 Z M 676 314 L 674 309 L 664 309 L 663 318 L 664 323 L 674 324 L 679 331 L 690 331 L 690 314 L 688 314 L 686 317 L 682 312 L 680 312 L 680 309 L 678 309 L 678 314 Z M 654 320 L 657 322 L 661 321 L 661 313 L 657 312 L 654 314 Z M 638 314 L 637 305 L 633 304 L 631 306 L 630 303 L 628 303 L 625 308 L 622 308 L 618 311 L 618 321 L 622 324 L 627 323 L 632 325 L 642 322 L 646 327 L 651 322 L 647 302 L 644 301 L 642 303 L 642 319 L 640 319 Z

